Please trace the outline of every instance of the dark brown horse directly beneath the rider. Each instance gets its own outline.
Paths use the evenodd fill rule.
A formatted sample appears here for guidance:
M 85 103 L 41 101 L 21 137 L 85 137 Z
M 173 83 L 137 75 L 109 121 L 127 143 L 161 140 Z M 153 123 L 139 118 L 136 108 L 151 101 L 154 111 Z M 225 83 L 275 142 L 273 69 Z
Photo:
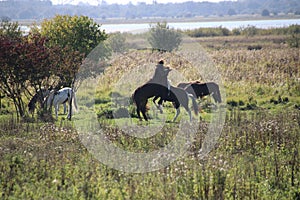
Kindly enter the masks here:
M 189 109 L 189 98 L 192 99 L 194 112 L 196 115 L 198 115 L 198 105 L 196 99 L 192 95 L 189 95 L 184 89 L 170 86 L 170 91 L 168 91 L 168 89 L 161 84 L 148 82 L 141 87 L 138 87 L 132 95 L 132 99 L 137 106 L 137 115 L 140 120 L 142 120 L 140 115 L 140 112 L 142 112 L 144 119 L 148 121 L 148 117 L 146 116 L 146 104 L 149 98 L 155 96 L 173 103 L 174 107 L 176 108 L 176 114 L 173 118 L 173 122 L 176 121 L 178 115 L 180 114 L 180 105 L 182 105 L 188 112 L 190 121 L 192 120 L 191 111 Z

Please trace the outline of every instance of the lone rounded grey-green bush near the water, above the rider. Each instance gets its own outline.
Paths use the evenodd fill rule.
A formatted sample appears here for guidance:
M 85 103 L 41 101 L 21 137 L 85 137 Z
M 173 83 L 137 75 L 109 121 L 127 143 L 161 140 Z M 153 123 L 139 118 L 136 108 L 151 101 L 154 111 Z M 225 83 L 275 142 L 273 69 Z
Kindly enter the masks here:
M 158 22 L 155 26 L 151 26 L 148 41 L 154 49 L 171 52 L 179 47 L 182 36 L 166 22 Z

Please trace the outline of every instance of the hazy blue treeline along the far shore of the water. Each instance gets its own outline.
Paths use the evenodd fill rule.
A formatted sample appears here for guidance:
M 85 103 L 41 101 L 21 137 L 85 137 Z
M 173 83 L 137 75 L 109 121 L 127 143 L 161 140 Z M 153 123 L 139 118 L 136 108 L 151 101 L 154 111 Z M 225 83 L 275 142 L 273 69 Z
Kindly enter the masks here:
M 105 2 L 105 1 L 103 1 Z M 156 1 L 155 1 L 156 2 Z M 107 18 L 191 18 L 195 16 L 224 15 L 278 15 L 300 14 L 298 0 L 241 0 L 184 3 L 138 3 L 133 5 L 107 4 L 90 5 L 53 5 L 50 0 L 6 0 L 0 1 L 0 17 L 10 19 L 45 19 L 60 15 L 85 15 L 105 20 Z

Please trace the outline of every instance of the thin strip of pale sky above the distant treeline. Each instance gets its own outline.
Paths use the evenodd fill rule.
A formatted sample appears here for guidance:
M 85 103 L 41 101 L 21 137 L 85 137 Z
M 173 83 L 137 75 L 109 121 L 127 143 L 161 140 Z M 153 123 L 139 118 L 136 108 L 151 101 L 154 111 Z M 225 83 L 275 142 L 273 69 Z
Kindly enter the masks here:
M 98 5 L 101 4 L 102 0 L 51 0 L 53 4 L 78 4 L 79 2 L 82 3 L 89 3 L 90 5 Z M 157 3 L 181 3 L 189 0 L 156 0 Z M 202 1 L 209 1 L 209 2 L 220 2 L 224 0 L 193 0 L 194 2 L 202 2 Z M 228 0 L 226 0 L 228 1 Z M 145 2 L 147 4 L 151 4 L 153 0 L 106 0 L 108 4 L 118 3 L 118 4 L 127 4 L 131 2 L 132 4 L 137 4 L 138 2 Z

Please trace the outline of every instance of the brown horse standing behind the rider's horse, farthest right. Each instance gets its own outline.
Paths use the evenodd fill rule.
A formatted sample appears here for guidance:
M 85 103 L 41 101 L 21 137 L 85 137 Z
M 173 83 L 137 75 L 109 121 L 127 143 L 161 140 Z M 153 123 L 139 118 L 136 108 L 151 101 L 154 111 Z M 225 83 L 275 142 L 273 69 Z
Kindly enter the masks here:
M 195 98 L 212 95 L 215 103 L 222 103 L 219 85 L 215 82 L 200 83 L 199 81 L 195 81 L 191 83 L 179 83 L 177 87 L 184 88 L 187 93 L 192 94 Z

